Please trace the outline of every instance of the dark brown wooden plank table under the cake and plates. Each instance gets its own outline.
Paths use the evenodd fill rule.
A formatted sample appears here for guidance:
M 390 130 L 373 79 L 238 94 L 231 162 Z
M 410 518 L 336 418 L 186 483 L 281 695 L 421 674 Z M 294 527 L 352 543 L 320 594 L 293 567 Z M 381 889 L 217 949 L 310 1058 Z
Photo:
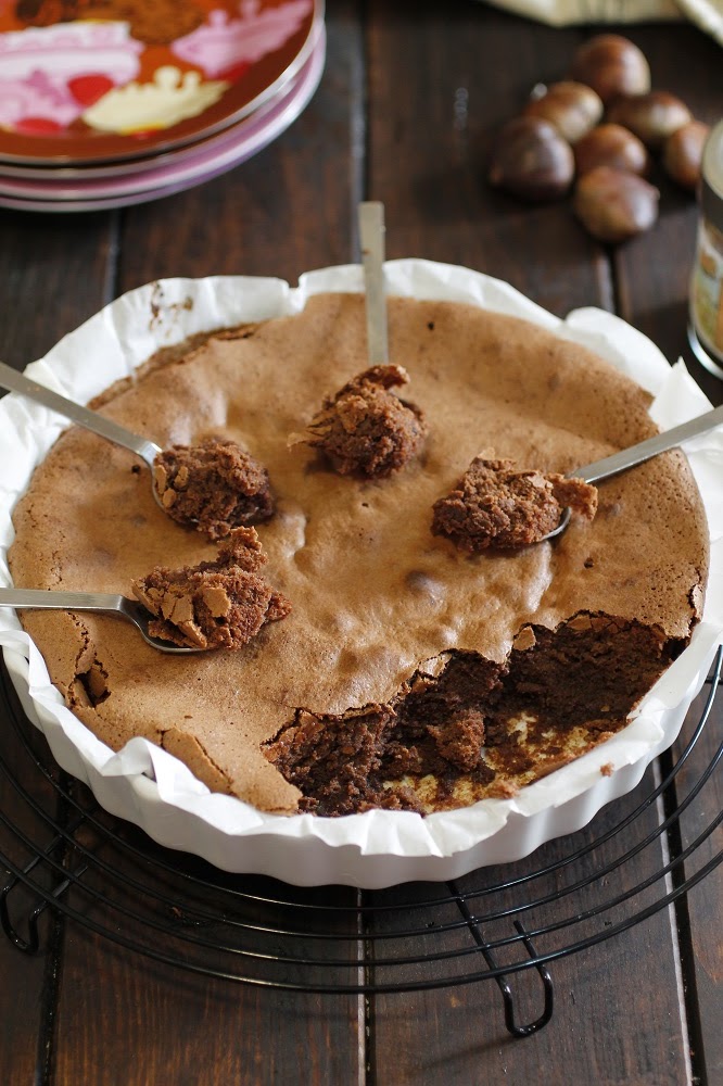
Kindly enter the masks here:
M 682 355 L 710 399 L 723 400 L 723 383 L 692 358 L 686 343 L 697 223 L 689 195 L 657 177 L 659 223 L 608 251 L 583 232 L 565 201 L 523 207 L 485 185 L 495 129 L 518 111 L 535 83 L 562 77 L 575 46 L 597 28 L 551 29 L 473 0 L 329 0 L 327 25 L 326 72 L 310 105 L 276 143 L 226 176 L 125 211 L 0 211 L 0 328 L 7 361 L 22 368 L 104 303 L 160 276 L 240 273 L 295 282 L 306 269 L 358 260 L 355 207 L 360 199 L 375 199 L 386 209 L 388 256 L 477 268 L 508 280 L 559 316 L 581 305 L 614 311 L 671 362 Z M 614 29 L 645 50 L 657 87 L 678 93 L 701 119 L 723 115 L 722 54 L 712 39 L 687 23 Z M 694 723 L 703 696 L 694 706 Z M 712 758 L 723 722 L 721 700 L 678 774 L 677 792 L 645 803 L 656 773 L 664 775 L 675 763 L 674 753 L 648 771 L 632 797 L 600 812 L 573 841 L 550 843 L 507 871 L 478 875 L 477 885 L 517 877 L 531 864 L 555 864 L 605 836 L 621 812 L 635 811 L 642 800 L 616 847 L 619 853 L 634 848 L 648 832 L 651 844 L 626 859 L 614 877 L 623 894 L 626 885 L 648 877 L 655 883 L 669 850 L 680 855 L 723 807 L 719 773 L 668 835 L 655 833 Z M 58 798 L 53 773 L 49 780 L 29 763 L 5 697 L 0 711 L 0 851 L 23 867 L 33 843 L 42 848 L 52 839 L 27 796 L 64 824 L 68 804 Z M 41 763 L 49 765 L 41 743 L 38 750 Z M 13 775 L 23 780 L 26 795 L 13 785 Z M 62 776 L 61 784 L 80 803 L 87 800 L 85 790 Z M 30 844 L 24 845 L 9 825 L 20 826 Z M 595 875 L 610 847 L 583 853 L 573 877 L 589 877 L 591 864 Z M 238 984 L 124 946 L 134 936 L 132 925 L 104 920 L 102 906 L 85 905 L 77 894 L 69 900 L 78 919 L 50 910 L 41 917 L 38 954 L 23 955 L 0 933 L 0 1083 L 721 1084 L 723 874 L 714 867 L 716 847 L 720 836 L 712 835 L 663 880 L 652 900 L 674 896 L 682 880 L 711 867 L 674 906 L 654 907 L 614 937 L 593 939 L 589 948 L 549 962 L 554 1013 L 527 1039 L 512 1039 L 506 1031 L 500 990 L 489 977 L 366 994 Z M 135 870 L 127 857 L 113 862 L 129 866 L 131 874 Z M 554 885 L 557 876 L 549 877 Z M 166 871 L 163 881 L 177 895 L 180 914 L 182 880 Z M 585 908 L 594 911 L 608 893 L 607 882 L 606 875 L 593 877 Z M 337 893 L 325 891 L 316 901 L 352 906 L 348 912 L 329 913 L 330 925 L 343 926 L 356 915 L 358 902 L 353 892 Z M 504 892 L 512 904 L 521 893 Z M 8 895 L 23 931 L 23 917 L 35 904 L 26 896 L 21 900 L 17 888 Z M 393 897 L 382 895 L 377 904 Z M 415 902 L 429 897 L 429 886 L 409 887 L 397 899 L 408 904 L 411 917 Z M 563 921 L 576 907 L 569 898 L 556 904 L 553 895 L 546 920 Z M 645 909 L 646 901 L 630 907 L 632 912 L 625 908 L 623 919 Z M 263 914 L 263 906 L 259 910 Z M 359 942 L 368 942 L 371 926 L 383 929 L 389 915 L 381 910 L 367 918 Z M 84 917 L 106 923 L 114 937 Z M 417 911 L 409 923 L 433 927 L 437 913 Z M 602 915 L 596 923 L 593 933 L 605 925 L 616 929 L 618 918 Z M 161 933 L 155 945 L 163 947 L 163 938 Z M 379 954 L 380 945 L 375 946 Z M 479 969 L 484 971 L 484 962 Z M 510 976 L 510 985 L 518 1021 L 535 1019 L 543 998 L 535 971 Z

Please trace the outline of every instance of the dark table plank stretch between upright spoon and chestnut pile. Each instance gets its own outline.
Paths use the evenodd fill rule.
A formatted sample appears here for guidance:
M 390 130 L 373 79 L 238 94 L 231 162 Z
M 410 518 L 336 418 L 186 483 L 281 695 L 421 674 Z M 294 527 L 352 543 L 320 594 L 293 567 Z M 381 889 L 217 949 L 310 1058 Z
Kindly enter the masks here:
M 371 10 L 368 195 L 385 204 L 388 255 L 485 272 L 557 316 L 611 308 L 605 254 L 569 200 L 533 206 L 486 180 L 497 131 L 536 83 L 563 76 L 580 31 L 482 4 L 426 0 L 414 22 Z

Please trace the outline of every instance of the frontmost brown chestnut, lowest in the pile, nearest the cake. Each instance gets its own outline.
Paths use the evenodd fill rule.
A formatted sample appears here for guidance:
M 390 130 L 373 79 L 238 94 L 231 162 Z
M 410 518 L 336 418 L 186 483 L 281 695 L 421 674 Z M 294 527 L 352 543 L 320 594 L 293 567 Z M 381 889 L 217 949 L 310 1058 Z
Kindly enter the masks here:
M 619 242 L 649 229 L 660 193 L 637 174 L 596 166 L 578 181 L 572 210 L 598 241 Z

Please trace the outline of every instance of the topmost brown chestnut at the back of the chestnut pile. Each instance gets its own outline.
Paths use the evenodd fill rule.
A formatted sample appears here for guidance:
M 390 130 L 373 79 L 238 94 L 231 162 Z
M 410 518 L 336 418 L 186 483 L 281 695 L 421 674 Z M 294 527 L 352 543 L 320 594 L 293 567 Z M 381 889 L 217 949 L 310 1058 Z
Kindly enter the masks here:
M 572 59 L 570 74 L 597 91 L 606 104 L 619 94 L 645 94 L 650 89 L 645 53 L 620 34 L 598 34 L 584 42 Z

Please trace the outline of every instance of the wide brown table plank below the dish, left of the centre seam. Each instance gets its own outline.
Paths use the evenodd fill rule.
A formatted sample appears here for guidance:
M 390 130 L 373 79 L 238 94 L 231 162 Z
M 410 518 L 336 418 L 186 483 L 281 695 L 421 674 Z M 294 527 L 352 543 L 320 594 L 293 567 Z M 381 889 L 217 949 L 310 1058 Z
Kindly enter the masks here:
M 117 871 L 117 880 L 105 876 L 99 885 L 123 906 L 123 880 L 137 875 L 138 869 L 120 857 Z M 238 882 L 244 884 L 243 880 Z M 188 888 L 173 877 L 167 886 L 176 887 L 179 910 L 185 909 Z M 76 899 L 79 897 L 76 895 Z M 205 901 L 214 911 L 211 894 L 199 895 L 196 901 L 201 906 Z M 138 902 L 128 901 L 126 907 L 145 912 L 144 908 L 138 909 Z M 288 923 L 297 922 L 293 911 L 286 913 Z M 113 912 L 103 906 L 99 910 L 91 904 L 87 914 L 105 924 L 110 918 L 127 937 L 143 937 L 142 923 L 131 922 L 122 909 Z M 244 909 L 245 920 L 251 921 L 252 915 Z M 271 907 L 256 911 L 256 923 L 274 924 L 278 920 L 278 910 Z M 353 917 L 350 922 L 354 926 Z M 337 920 L 329 922 L 332 926 L 340 926 Z M 219 931 L 201 927 L 199 933 L 216 942 L 229 938 L 228 926 Z M 148 934 L 153 939 L 153 933 Z M 252 954 L 283 954 L 290 943 L 280 936 L 265 942 L 254 936 L 246 945 Z M 341 974 L 335 970 L 334 976 L 348 984 L 356 977 L 355 943 L 344 946 L 341 952 L 348 954 L 350 967 Z M 170 934 L 157 933 L 155 947 L 183 960 L 183 948 Z M 192 944 L 188 944 L 187 952 L 189 960 L 210 969 L 254 973 L 253 961 L 231 961 L 228 956 L 199 950 Z M 296 939 L 291 952 L 314 955 L 319 949 L 307 937 L 305 945 L 303 938 Z M 307 969 L 296 973 L 306 983 L 314 975 Z M 293 974 L 291 965 L 276 970 L 261 967 L 261 975 L 267 980 L 289 981 Z M 353 995 L 284 992 L 195 974 L 120 949 L 77 925 L 67 933 L 62 980 L 55 1071 L 59 1083 L 101 1084 L 109 1081 L 109 1068 L 113 1069 L 112 1081 L 124 1086 L 167 1082 L 179 1086 L 215 1086 L 219 1082 L 244 1086 L 304 1082 L 324 1086 L 358 1079 L 363 1037 L 359 1002 Z

